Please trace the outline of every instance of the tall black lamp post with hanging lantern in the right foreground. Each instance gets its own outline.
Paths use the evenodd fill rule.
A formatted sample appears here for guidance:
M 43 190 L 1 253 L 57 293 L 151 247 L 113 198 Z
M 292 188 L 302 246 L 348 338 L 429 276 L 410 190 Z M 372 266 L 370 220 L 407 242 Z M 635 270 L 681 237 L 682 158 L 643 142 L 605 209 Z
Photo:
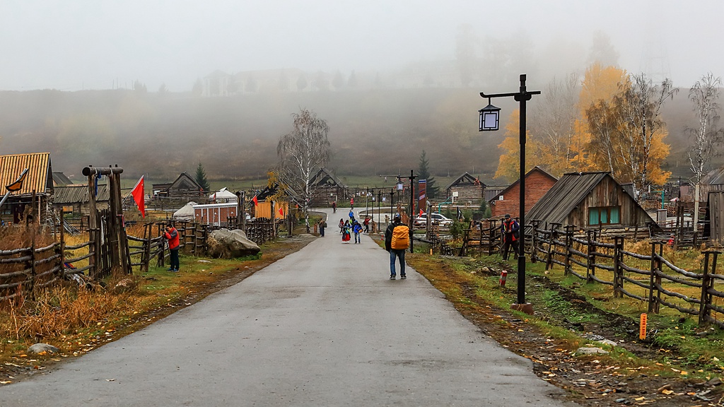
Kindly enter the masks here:
M 486 95 L 481 92 L 482 98 L 488 98 L 488 106 L 479 110 L 480 114 L 480 131 L 493 131 L 498 130 L 498 124 L 500 122 L 500 108 L 497 108 L 490 104 L 491 98 L 506 98 L 513 96 L 515 101 L 520 104 L 520 143 L 521 143 L 521 196 L 520 196 L 520 227 L 518 239 L 518 301 L 513 304 L 510 308 L 517 309 L 518 311 L 526 312 L 526 314 L 533 314 L 533 306 L 531 303 L 526 303 L 526 101 L 531 100 L 531 96 L 541 94 L 540 91 L 527 91 L 526 90 L 526 75 L 521 75 L 521 88 L 520 91 L 514 93 L 494 93 Z M 505 238 L 505 237 L 504 237 Z

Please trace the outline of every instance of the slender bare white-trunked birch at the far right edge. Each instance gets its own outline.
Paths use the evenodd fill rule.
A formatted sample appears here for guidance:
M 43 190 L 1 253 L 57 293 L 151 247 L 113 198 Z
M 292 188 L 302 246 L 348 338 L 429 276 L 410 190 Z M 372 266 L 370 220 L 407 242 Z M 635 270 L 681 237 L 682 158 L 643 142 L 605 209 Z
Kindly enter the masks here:
M 691 172 L 694 172 L 694 225 L 699 221 L 699 185 L 704 177 L 707 164 L 717 154 L 723 131 L 717 128 L 719 122 L 719 86 L 721 77 L 715 77 L 712 72 L 702 76 L 689 90 L 689 100 L 694 103 L 694 113 L 698 127 L 687 127 L 686 133 L 694 138 L 694 145 L 689 150 L 689 163 Z

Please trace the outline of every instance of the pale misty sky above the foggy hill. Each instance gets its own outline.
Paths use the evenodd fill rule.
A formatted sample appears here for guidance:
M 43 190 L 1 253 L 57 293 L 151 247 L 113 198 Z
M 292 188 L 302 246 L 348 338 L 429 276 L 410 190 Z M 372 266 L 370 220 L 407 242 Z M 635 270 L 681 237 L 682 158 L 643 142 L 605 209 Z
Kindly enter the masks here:
M 386 72 L 455 59 L 463 24 L 480 38 L 524 35 L 542 63 L 562 48 L 588 54 L 603 30 L 620 67 L 637 73 L 648 61 L 689 88 L 707 71 L 724 75 L 723 17 L 721 0 L 2 0 L 0 90 L 138 79 L 188 91 L 214 70 Z

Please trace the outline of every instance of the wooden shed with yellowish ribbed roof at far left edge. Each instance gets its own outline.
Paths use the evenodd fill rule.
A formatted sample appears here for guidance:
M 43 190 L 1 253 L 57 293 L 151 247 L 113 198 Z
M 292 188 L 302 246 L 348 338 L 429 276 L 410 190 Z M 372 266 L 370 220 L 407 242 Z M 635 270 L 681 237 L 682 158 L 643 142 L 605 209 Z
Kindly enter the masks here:
M 22 188 L 10 193 L 0 208 L 0 218 L 4 222 L 18 223 L 24 219 L 25 211 L 30 210 L 35 193 L 35 206 L 41 222 L 52 212 L 51 199 L 53 196 L 53 169 L 50 162 L 50 153 L 12 154 L 0 156 L 0 187 L 12 184 L 20 176 L 22 170 L 27 168 L 28 174 L 22 181 Z

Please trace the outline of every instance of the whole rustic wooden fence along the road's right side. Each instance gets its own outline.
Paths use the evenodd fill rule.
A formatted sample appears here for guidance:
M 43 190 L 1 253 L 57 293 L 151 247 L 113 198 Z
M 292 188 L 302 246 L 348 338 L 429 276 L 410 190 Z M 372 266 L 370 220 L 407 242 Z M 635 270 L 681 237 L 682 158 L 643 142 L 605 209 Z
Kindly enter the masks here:
M 575 226 L 540 227 L 532 222 L 524 228 L 525 252 L 531 261 L 544 262 L 546 269 L 563 267 L 565 275 L 584 282 L 610 285 L 613 295 L 647 303 L 648 311 L 659 313 L 660 306 L 697 316 L 699 324 L 712 323 L 724 328 L 724 274 L 717 274 L 721 253 L 703 251 L 699 272 L 687 271 L 665 259 L 661 240 L 650 241 L 650 254 L 625 250 L 625 243 L 636 242 L 647 230 L 584 230 Z M 432 234 L 416 238 L 432 245 L 441 255 L 468 256 L 500 253 L 500 223 L 484 220 L 464 230 L 463 245 L 452 249 L 445 240 Z

